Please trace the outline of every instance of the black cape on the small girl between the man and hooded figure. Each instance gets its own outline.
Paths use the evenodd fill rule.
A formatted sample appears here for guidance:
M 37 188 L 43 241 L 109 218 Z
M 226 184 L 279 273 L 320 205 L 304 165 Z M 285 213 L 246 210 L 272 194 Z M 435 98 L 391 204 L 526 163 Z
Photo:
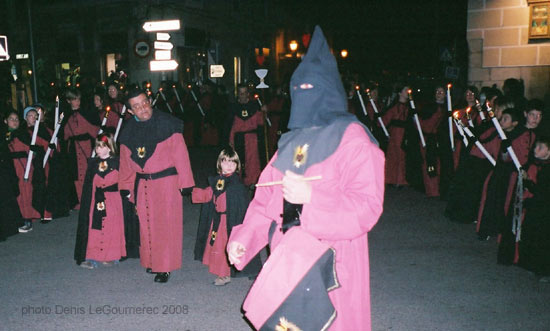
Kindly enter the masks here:
M 225 180 L 223 190 L 216 189 L 216 183 L 219 179 Z M 219 196 L 226 193 L 226 224 L 227 224 L 227 237 L 231 235 L 231 230 L 234 226 L 242 224 L 244 215 L 248 208 L 250 199 L 248 197 L 248 190 L 243 185 L 241 178 L 238 174 L 234 173 L 229 177 L 217 175 L 208 177 L 208 185 L 212 187 L 215 195 Z M 202 261 L 204 255 L 204 249 L 207 245 L 208 231 L 212 220 L 216 217 L 216 207 L 214 206 L 214 200 L 211 199 L 207 203 L 202 204 L 201 216 L 199 219 L 199 226 L 197 229 L 197 240 L 195 242 L 195 260 Z M 218 215 L 219 216 L 219 215 Z M 260 255 L 254 257 L 250 263 L 242 271 L 237 271 L 234 267 L 231 267 L 232 277 L 253 277 L 260 272 L 262 262 Z

